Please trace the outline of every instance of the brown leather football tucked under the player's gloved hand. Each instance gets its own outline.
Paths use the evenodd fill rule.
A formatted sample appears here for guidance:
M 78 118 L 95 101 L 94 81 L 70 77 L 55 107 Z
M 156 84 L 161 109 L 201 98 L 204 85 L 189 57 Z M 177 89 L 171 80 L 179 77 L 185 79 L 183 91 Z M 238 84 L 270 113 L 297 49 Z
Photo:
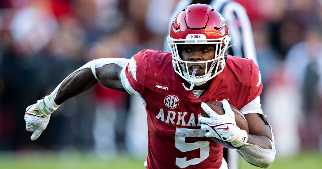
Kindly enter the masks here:
M 225 110 L 223 109 L 223 103 L 221 101 L 209 101 L 206 103 L 211 109 L 213 109 L 214 112 L 216 112 L 217 114 L 223 115 L 225 114 Z M 230 107 L 232 108 L 232 111 L 235 114 L 235 122 L 236 125 L 242 129 L 245 130 L 248 134 L 249 134 L 249 128 L 248 128 L 248 123 L 246 118 L 244 117 L 244 115 L 234 106 L 230 105 Z M 204 117 L 209 117 L 208 114 L 203 110 L 202 112 L 202 116 Z M 236 149 L 236 147 L 232 146 L 231 143 L 220 140 L 218 138 L 215 137 L 211 137 L 213 139 L 214 142 L 216 142 L 217 144 L 226 147 L 226 148 L 232 148 L 232 149 Z

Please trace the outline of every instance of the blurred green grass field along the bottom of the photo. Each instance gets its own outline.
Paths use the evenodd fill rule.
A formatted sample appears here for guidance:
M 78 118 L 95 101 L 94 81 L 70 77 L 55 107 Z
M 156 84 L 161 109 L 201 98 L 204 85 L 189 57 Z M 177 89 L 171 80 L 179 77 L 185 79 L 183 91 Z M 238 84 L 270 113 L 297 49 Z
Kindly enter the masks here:
M 0 152 L 0 169 L 144 169 L 144 158 L 119 154 L 111 160 L 90 153 Z M 241 160 L 240 169 L 259 169 Z M 302 152 L 289 158 L 276 158 L 270 169 L 322 169 L 322 153 Z

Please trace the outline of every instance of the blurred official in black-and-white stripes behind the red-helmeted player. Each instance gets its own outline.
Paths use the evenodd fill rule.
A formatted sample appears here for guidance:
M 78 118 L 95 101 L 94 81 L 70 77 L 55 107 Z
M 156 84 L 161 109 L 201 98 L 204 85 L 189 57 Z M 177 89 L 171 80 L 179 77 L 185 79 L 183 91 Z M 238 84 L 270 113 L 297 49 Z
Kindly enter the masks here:
M 171 4 L 172 3 L 173 2 L 171 2 Z M 159 5 L 158 3 L 151 3 L 151 4 Z M 245 8 L 241 4 L 233 0 L 179 0 L 175 5 L 172 14 L 170 15 L 167 28 L 171 26 L 173 18 L 175 18 L 175 16 L 183 8 L 191 4 L 211 5 L 220 14 L 222 14 L 226 20 L 227 26 L 229 27 L 229 35 L 232 37 L 230 43 L 236 44 L 234 47 L 228 48 L 228 50 L 226 51 L 226 54 L 233 55 L 240 58 L 252 59 L 255 62 L 255 64 L 258 66 L 251 22 L 246 13 Z M 155 10 L 151 9 L 149 11 L 153 11 L 153 14 L 155 13 Z M 148 26 L 153 28 L 154 26 L 152 24 L 153 22 L 151 21 L 150 23 L 151 24 L 149 24 Z M 166 52 L 171 52 L 168 47 L 168 43 L 166 41 L 167 36 L 170 33 L 170 29 L 167 29 L 167 30 L 168 30 L 168 33 L 164 40 L 163 50 Z M 234 152 L 234 150 L 232 149 L 224 148 L 223 155 L 225 160 L 228 163 L 229 169 L 239 168 L 238 167 L 239 157 L 237 152 Z

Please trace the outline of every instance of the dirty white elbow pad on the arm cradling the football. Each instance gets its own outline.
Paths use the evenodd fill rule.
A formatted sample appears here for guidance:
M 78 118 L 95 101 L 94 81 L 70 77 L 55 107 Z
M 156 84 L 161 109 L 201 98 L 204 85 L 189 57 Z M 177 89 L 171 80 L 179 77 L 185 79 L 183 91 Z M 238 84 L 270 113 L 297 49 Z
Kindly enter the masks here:
M 274 162 L 275 159 L 275 147 L 272 149 L 264 149 L 258 145 L 252 145 L 246 143 L 237 152 L 248 163 L 261 167 L 268 168 Z

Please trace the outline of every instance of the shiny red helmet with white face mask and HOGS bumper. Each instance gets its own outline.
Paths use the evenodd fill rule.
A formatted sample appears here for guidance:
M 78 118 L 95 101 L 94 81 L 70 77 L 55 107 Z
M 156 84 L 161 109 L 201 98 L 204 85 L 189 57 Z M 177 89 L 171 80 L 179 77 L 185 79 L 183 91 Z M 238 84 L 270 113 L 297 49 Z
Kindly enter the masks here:
M 227 24 L 222 15 L 210 5 L 193 4 L 182 10 L 173 21 L 170 35 L 167 38 L 172 52 L 172 62 L 175 72 L 187 80 L 191 86 L 199 86 L 223 71 L 225 66 L 225 52 L 230 42 Z M 187 71 L 187 64 L 179 56 L 177 45 L 182 44 L 214 44 L 215 56 L 208 61 L 194 61 L 206 63 L 203 76 L 192 76 Z M 208 65 L 212 66 L 208 69 Z M 188 90 L 188 88 L 185 87 Z

